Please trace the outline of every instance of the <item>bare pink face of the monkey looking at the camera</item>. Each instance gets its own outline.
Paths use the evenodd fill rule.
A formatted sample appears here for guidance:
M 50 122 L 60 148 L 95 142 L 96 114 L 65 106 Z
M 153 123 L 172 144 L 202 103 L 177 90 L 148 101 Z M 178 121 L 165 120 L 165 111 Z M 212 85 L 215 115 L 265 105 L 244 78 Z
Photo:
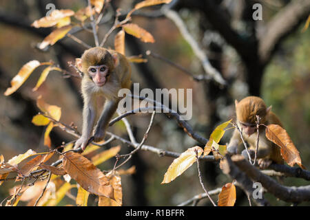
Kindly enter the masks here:
M 109 68 L 106 65 L 88 67 L 88 74 L 98 87 L 102 87 L 107 82 L 107 77 L 110 75 Z

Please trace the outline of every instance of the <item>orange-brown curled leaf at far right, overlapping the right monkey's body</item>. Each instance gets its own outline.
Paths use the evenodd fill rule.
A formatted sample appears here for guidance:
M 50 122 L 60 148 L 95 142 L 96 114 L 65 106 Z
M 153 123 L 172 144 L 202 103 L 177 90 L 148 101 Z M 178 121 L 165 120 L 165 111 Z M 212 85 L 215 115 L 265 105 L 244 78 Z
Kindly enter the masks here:
M 303 169 L 306 169 L 301 162 L 301 158 L 296 146 L 291 141 L 291 137 L 285 129 L 282 129 L 278 124 L 269 124 L 266 128 L 266 137 L 271 142 L 277 144 L 281 148 L 281 155 L 289 166 L 298 164 Z

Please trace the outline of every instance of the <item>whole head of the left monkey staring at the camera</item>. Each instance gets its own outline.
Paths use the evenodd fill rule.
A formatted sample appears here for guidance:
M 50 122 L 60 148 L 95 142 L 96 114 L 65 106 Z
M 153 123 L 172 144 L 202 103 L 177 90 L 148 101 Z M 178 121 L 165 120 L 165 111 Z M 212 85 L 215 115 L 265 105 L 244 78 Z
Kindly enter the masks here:
M 113 74 L 117 62 L 117 54 L 110 54 L 103 47 L 85 50 L 81 57 L 81 70 L 92 79 L 97 87 L 103 87 Z

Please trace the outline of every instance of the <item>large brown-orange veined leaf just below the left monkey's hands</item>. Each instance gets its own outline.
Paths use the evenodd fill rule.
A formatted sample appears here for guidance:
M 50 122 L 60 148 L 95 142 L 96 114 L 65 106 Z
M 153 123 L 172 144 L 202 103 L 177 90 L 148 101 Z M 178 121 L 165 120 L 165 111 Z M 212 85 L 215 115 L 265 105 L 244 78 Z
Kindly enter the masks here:
M 105 175 L 79 153 L 68 152 L 63 157 L 63 169 L 87 192 L 114 199 L 113 188 Z

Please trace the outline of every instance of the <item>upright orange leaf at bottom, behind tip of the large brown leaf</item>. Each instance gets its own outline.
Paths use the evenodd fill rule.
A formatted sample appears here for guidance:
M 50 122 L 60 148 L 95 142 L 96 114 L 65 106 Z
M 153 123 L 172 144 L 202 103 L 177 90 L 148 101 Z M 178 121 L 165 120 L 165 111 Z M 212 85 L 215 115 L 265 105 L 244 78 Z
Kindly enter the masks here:
M 121 177 L 118 175 L 118 173 L 113 173 L 113 171 L 107 173 L 106 177 L 107 179 L 110 180 L 110 183 L 114 188 L 115 201 L 107 197 L 99 196 L 98 206 L 122 206 L 123 192 L 122 192 Z

